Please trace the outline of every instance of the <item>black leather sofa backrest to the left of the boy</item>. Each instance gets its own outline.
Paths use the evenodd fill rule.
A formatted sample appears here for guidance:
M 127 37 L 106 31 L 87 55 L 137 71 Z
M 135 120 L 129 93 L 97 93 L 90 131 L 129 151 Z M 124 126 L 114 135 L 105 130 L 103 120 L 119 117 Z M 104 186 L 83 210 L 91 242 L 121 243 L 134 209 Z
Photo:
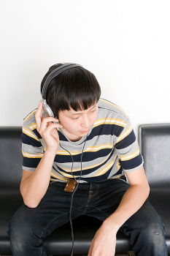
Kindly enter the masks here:
M 0 193 L 20 193 L 22 127 L 0 127 Z

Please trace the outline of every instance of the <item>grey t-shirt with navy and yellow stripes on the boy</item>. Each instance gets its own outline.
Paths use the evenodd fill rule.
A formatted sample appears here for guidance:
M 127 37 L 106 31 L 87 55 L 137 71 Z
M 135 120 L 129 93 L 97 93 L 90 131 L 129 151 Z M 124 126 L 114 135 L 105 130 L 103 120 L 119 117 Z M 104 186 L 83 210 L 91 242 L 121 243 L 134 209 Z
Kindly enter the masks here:
M 46 150 L 45 140 L 36 130 L 35 113 L 36 109 L 23 119 L 23 170 L 36 170 Z M 77 181 L 80 179 L 80 183 L 108 178 L 128 182 L 125 172 L 136 170 L 144 164 L 129 117 L 122 108 L 106 99 L 98 100 L 96 121 L 88 135 L 80 140 L 73 142 L 66 138 L 60 128 L 57 129 L 60 143 L 50 182 L 66 182 L 67 178 L 73 176 Z

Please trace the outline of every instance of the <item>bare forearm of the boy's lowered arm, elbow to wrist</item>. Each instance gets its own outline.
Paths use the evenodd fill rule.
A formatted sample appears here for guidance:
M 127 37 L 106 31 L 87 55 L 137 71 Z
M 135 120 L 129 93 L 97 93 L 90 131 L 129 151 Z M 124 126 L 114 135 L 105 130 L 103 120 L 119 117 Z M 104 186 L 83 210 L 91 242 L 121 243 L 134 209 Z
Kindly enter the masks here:
M 123 195 L 116 211 L 104 220 L 104 225 L 118 230 L 128 218 L 141 208 L 149 194 L 149 187 L 131 185 Z

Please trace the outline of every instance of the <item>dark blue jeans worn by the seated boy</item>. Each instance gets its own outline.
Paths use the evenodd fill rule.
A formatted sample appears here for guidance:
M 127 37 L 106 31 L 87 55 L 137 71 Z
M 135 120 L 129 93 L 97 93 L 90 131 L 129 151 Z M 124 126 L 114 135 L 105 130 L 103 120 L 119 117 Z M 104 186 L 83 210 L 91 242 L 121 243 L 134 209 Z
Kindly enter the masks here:
M 73 197 L 72 219 L 85 214 L 104 221 L 120 203 L 130 185 L 120 179 L 79 184 Z M 53 182 L 36 208 L 20 206 L 9 222 L 12 255 L 45 256 L 43 240 L 57 227 L 69 222 L 72 192 L 64 183 Z M 74 228 L 74 227 L 73 227 Z M 167 245 L 161 217 L 147 199 L 121 227 L 130 235 L 135 255 L 166 256 Z

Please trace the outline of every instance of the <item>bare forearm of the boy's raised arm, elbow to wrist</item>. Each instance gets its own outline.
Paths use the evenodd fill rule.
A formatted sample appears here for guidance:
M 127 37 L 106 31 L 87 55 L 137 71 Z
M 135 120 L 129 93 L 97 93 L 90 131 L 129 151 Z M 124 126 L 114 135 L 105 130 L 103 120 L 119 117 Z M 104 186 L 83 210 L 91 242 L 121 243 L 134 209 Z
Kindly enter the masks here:
M 47 192 L 54 158 L 55 152 L 46 149 L 34 173 L 20 184 L 20 193 L 26 206 L 31 208 L 38 206 Z

